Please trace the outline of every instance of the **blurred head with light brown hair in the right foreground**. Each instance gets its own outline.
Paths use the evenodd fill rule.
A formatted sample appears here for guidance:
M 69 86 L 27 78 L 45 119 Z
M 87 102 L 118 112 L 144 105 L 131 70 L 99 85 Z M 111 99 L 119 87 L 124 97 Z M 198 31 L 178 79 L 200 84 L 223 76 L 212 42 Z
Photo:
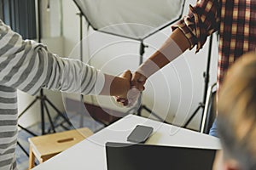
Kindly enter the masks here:
M 256 54 L 244 54 L 227 73 L 218 98 L 224 169 L 256 169 Z

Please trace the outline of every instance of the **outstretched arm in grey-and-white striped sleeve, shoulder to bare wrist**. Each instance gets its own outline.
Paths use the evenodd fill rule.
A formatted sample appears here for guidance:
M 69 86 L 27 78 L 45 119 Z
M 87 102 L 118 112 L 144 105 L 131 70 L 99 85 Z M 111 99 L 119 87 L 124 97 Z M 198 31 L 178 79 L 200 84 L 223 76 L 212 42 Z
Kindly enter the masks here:
M 0 49 L 4 52 L 0 54 L 2 60 L 13 56 L 13 59 L 0 66 L 2 70 L 12 69 L 9 74 L 0 71 L 0 80 L 4 86 L 17 88 L 28 94 L 37 94 L 41 88 L 47 88 L 66 93 L 122 97 L 126 97 L 130 89 L 131 76 L 126 79 L 109 76 L 77 59 L 61 58 L 50 53 L 41 43 L 24 41 L 1 20 L 0 32 L 0 37 L 8 40 L 8 43 L 0 44 Z M 6 75 L 10 78 L 6 79 Z

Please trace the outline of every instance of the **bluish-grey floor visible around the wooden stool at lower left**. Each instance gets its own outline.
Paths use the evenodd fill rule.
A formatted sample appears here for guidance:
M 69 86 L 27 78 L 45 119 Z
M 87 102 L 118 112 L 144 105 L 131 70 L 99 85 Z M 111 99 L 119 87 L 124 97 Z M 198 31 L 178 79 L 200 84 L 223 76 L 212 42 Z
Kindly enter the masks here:
M 55 124 L 55 131 L 61 132 L 64 131 L 65 128 L 73 129 L 78 127 L 89 127 L 92 132 L 96 132 L 104 125 L 102 123 L 96 122 L 89 116 L 83 116 L 80 115 L 73 115 L 72 117 L 69 116 L 70 122 L 72 122 L 72 125 L 68 125 L 67 122 L 63 122 L 63 119 L 61 117 L 55 117 L 54 124 Z M 60 126 L 60 123 L 62 123 L 63 127 Z M 45 129 L 49 129 L 50 123 L 45 123 Z M 28 130 L 30 130 L 32 133 L 36 133 L 38 135 L 41 134 L 41 123 L 35 124 L 32 127 L 28 127 Z M 30 133 L 27 133 L 25 130 L 20 130 L 18 133 L 18 142 L 20 145 L 26 150 L 26 153 L 29 153 L 29 144 L 28 144 L 28 138 L 33 137 Z M 25 151 L 21 150 L 20 146 L 17 146 L 16 148 L 16 158 L 17 158 L 17 167 L 19 170 L 27 170 L 28 168 L 28 156 L 26 156 Z M 38 162 L 37 162 L 38 163 Z

